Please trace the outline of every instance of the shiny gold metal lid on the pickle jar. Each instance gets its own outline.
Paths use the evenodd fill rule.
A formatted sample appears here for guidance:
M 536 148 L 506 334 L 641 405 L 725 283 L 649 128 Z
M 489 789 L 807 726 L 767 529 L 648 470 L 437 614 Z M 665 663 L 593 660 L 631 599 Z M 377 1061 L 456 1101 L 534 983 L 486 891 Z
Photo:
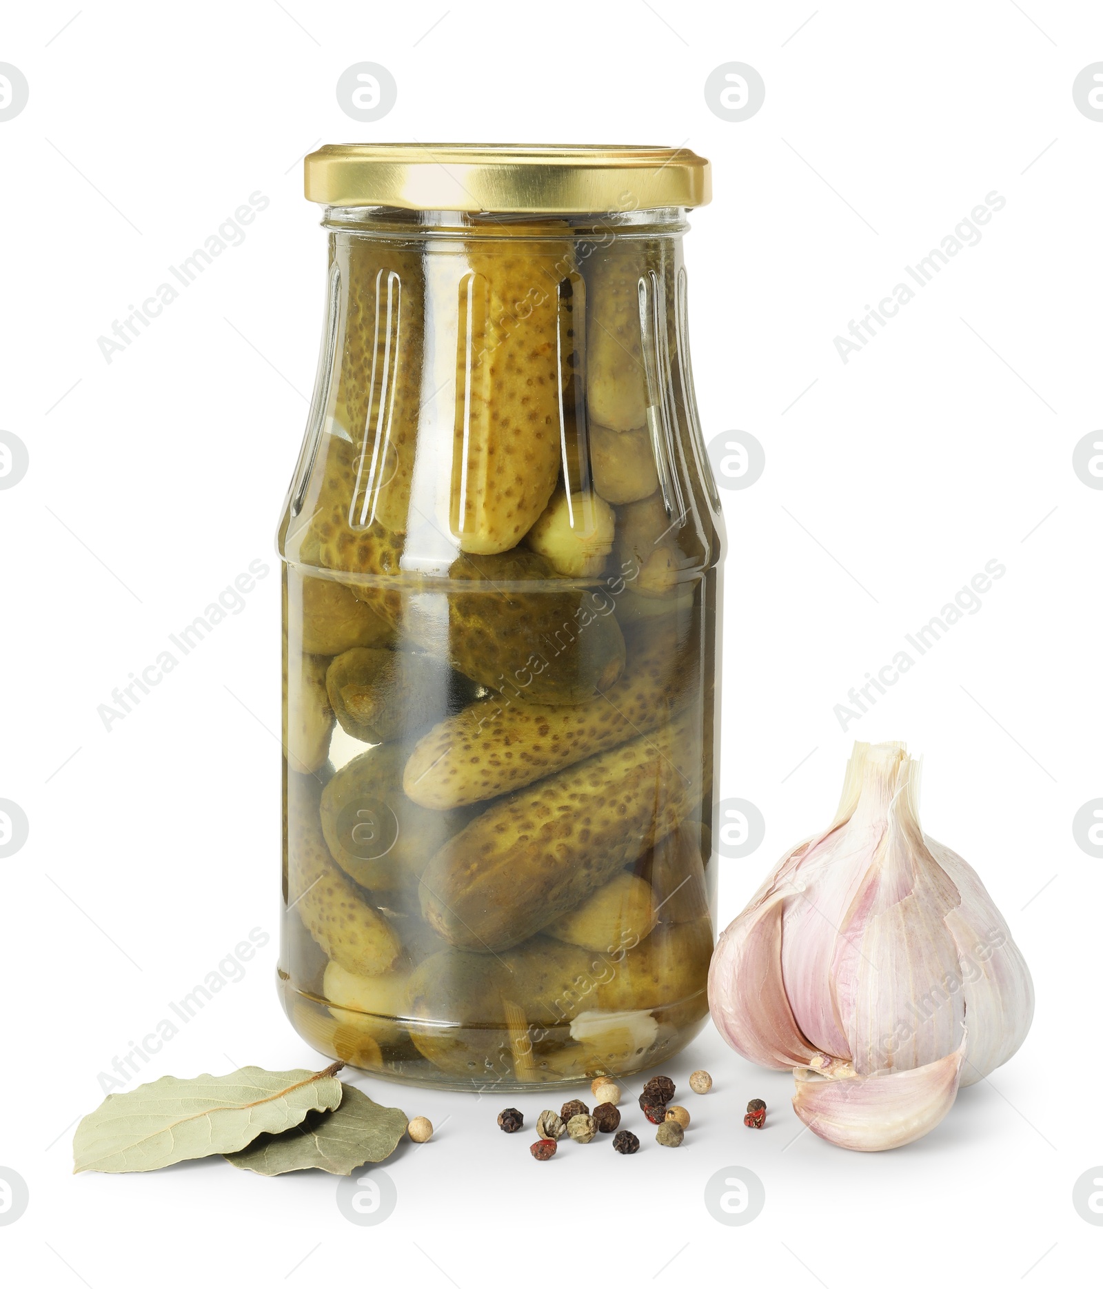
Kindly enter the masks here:
M 688 148 L 327 143 L 305 159 L 308 201 L 567 214 L 704 206 L 709 162 Z

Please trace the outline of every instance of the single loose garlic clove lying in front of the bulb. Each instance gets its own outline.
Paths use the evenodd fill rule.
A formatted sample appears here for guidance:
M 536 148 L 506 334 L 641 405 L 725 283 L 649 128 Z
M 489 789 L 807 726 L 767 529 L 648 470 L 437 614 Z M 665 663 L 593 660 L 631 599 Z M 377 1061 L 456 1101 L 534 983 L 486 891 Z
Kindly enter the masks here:
M 818 1137 L 847 1150 L 894 1150 L 917 1141 L 950 1111 L 961 1081 L 966 1039 L 956 1052 L 898 1074 L 823 1079 L 794 1071 L 792 1109 Z

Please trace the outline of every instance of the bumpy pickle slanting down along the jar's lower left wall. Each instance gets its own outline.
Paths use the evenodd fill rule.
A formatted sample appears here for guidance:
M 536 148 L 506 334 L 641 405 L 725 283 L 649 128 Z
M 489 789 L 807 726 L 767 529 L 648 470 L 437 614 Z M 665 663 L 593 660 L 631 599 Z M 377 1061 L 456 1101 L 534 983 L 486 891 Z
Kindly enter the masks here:
M 387 920 L 367 905 L 330 858 L 313 812 L 287 821 L 287 910 L 295 909 L 323 953 L 356 976 L 380 976 L 401 945 Z

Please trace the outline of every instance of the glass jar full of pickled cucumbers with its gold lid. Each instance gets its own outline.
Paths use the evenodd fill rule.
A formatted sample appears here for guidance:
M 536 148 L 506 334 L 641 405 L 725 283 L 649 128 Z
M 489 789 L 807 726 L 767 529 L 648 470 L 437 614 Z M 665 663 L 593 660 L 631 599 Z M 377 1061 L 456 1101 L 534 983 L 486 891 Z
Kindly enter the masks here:
M 383 1078 L 678 1052 L 715 913 L 719 499 L 662 148 L 327 147 L 280 525 L 298 1032 Z

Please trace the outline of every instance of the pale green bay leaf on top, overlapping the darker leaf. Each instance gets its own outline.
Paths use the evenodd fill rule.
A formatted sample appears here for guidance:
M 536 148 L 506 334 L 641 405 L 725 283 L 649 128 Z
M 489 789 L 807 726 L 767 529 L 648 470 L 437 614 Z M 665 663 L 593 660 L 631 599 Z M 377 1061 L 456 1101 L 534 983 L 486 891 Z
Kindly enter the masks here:
M 341 1062 L 321 1071 L 271 1072 L 247 1065 L 195 1079 L 166 1075 L 112 1092 L 73 1137 L 73 1172 L 144 1173 L 184 1159 L 244 1150 L 260 1133 L 300 1124 L 312 1110 L 335 1110 Z

